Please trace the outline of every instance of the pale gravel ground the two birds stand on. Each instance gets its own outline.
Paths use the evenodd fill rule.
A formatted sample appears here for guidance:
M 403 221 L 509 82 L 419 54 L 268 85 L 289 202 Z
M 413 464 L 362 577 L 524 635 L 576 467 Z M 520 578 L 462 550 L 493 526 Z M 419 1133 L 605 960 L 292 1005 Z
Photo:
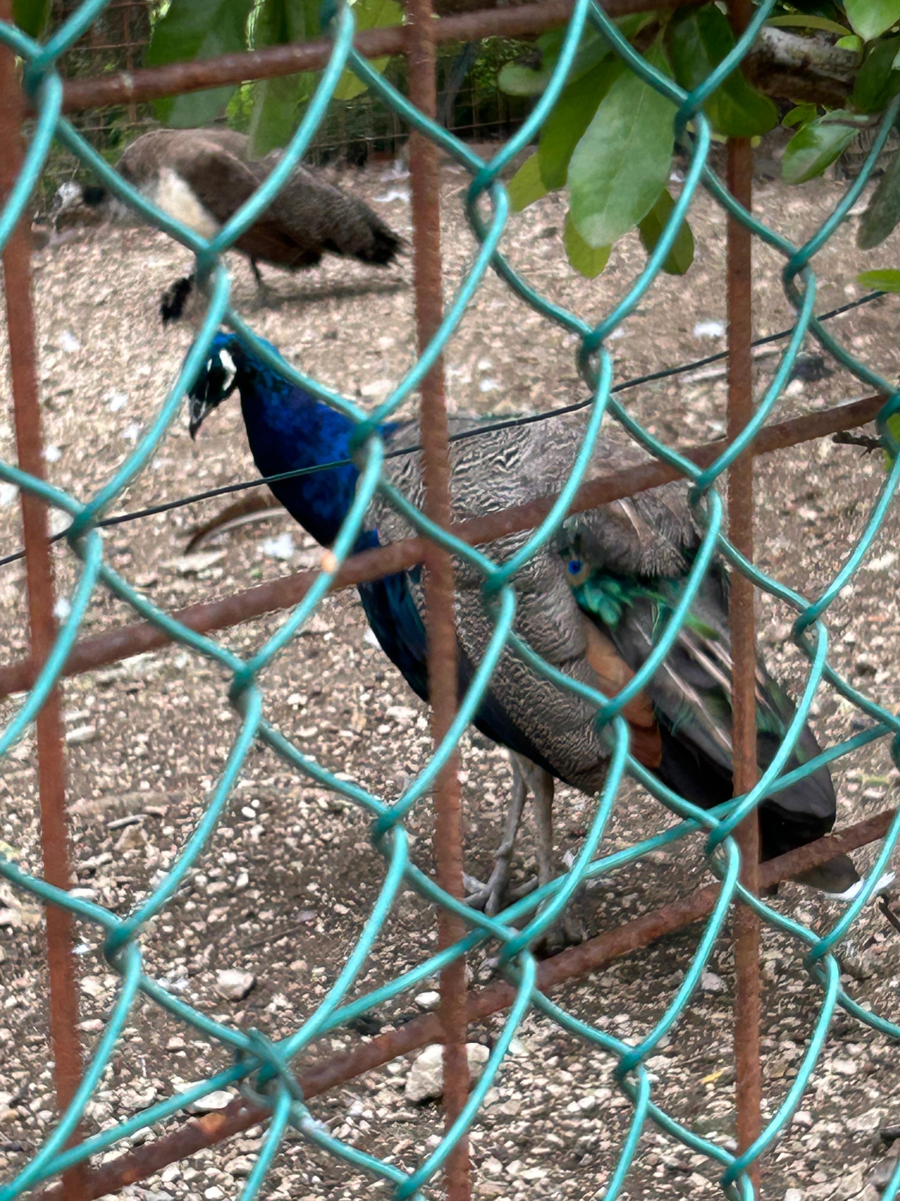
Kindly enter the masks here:
M 384 216 L 409 232 L 408 180 L 401 171 L 370 168 L 346 180 L 378 202 Z M 472 259 L 462 217 L 467 177 L 443 172 L 443 233 L 448 297 Z M 820 181 L 803 190 L 761 183 L 760 214 L 794 240 L 808 237 L 834 205 L 840 189 Z M 617 247 L 594 282 L 578 279 L 562 253 L 564 208 L 548 197 L 510 221 L 504 247 L 512 263 L 557 303 L 583 316 L 608 311 L 643 262 L 637 240 Z M 692 215 L 697 262 L 686 279 L 661 277 L 612 342 L 617 380 L 722 348 L 709 323 L 725 317 L 724 219 L 700 197 Z M 859 253 L 851 219 L 817 259 L 821 311 L 859 294 Z M 894 265 L 893 240 L 871 265 Z M 866 262 L 865 265 L 869 265 Z M 163 331 L 157 319 L 162 289 L 187 267 L 187 256 L 161 234 L 143 229 L 74 231 L 35 255 L 42 402 L 50 479 L 88 497 L 109 478 L 156 412 L 188 345 L 188 331 Z M 778 277 L 779 263 L 756 247 L 756 329 L 790 322 Z M 248 268 L 235 263 L 238 300 L 256 328 L 294 362 L 367 402 L 386 394 L 413 362 L 410 264 L 374 271 L 330 261 L 304 276 L 266 273 L 270 297 L 260 307 Z M 896 300 L 856 311 L 833 328 L 889 378 L 899 374 L 894 336 Z M 702 327 L 706 323 L 707 334 Z M 488 276 L 446 354 L 454 408 L 492 413 L 546 410 L 583 395 L 574 340 L 520 304 Z M 4 348 L 5 355 L 5 348 Z M 762 357 L 757 392 L 774 359 Z M 779 410 L 790 416 L 862 394 L 836 372 L 818 383 L 794 382 Z M 653 432 L 679 444 L 703 442 L 725 429 L 725 384 L 719 374 L 665 381 L 626 394 L 630 412 Z M 0 422 L 0 454 L 13 458 L 12 430 Z M 149 468 L 122 497 L 122 509 L 170 500 L 254 474 L 236 404 L 224 406 L 197 443 L 179 419 Z M 769 455 L 758 464 L 757 558 L 784 582 L 814 596 L 836 572 L 863 528 L 882 466 L 830 442 Z M 0 545 L 14 549 L 20 530 L 16 497 L 0 489 Z M 110 530 L 107 555 L 116 569 L 163 608 L 223 597 L 259 580 L 313 566 L 318 554 L 284 515 L 228 532 L 182 560 L 191 530 L 222 502 L 160 515 Z M 900 562 L 892 549 L 896 514 L 889 516 L 869 563 L 832 609 L 832 659 L 881 704 L 900 703 L 896 670 Z M 64 550 L 55 552 L 61 596 L 74 580 Z M 24 569 L 0 569 L 0 633 L 4 661 L 26 649 Z M 128 620 L 125 607 L 97 592 L 84 622 L 96 634 Z M 797 652 L 785 647 L 788 614 L 762 597 L 762 645 L 770 665 L 794 689 L 803 681 Z M 269 617 L 224 633 L 235 652 L 252 653 L 277 628 Z M 362 614 L 349 593 L 328 599 L 320 615 L 264 677 L 266 715 L 334 771 L 346 772 L 386 796 L 425 761 L 430 739 L 422 706 L 380 650 L 366 638 Z M 68 797 L 78 886 L 116 913 L 126 913 L 158 880 L 193 829 L 221 770 L 236 722 L 223 674 L 179 650 L 140 656 L 114 668 L 66 681 Z M 0 719 L 13 712 L 0 706 Z M 851 707 L 823 688 L 815 725 L 828 742 L 858 728 Z M 0 769 L 0 849 L 30 871 L 40 870 L 34 740 L 20 743 Z M 466 861 L 475 874 L 490 865 L 509 795 L 503 752 L 479 735 L 462 742 Z M 876 812 L 894 793 L 896 771 L 878 743 L 835 771 L 839 824 Z M 593 802 L 560 789 L 558 852 L 577 850 Z M 625 847 L 668 824 L 636 787 L 616 807 L 605 846 Z M 431 860 L 426 803 L 408 823 L 413 854 Z M 871 861 L 871 850 L 858 861 Z M 534 867 L 530 831 L 521 838 L 516 878 Z M 268 751 L 254 751 L 215 838 L 198 870 L 148 931 L 146 970 L 198 1009 L 271 1038 L 294 1030 L 324 993 L 370 913 L 383 878 L 364 814 L 288 773 Z M 605 879 L 576 902 L 588 934 L 684 895 L 708 880 L 698 843 L 677 855 L 658 854 L 640 868 Z M 794 885 L 775 902 L 785 913 L 826 928 L 838 910 Z M 5 908 L 4 908 L 5 907 Z M 554 994 L 577 1016 L 640 1039 L 659 1017 L 690 962 L 698 926 Z M 96 932 L 79 928 L 82 1030 L 89 1052 L 109 1012 L 115 979 L 104 970 Z M 899 936 L 874 908 L 857 922 L 842 967 L 845 984 L 863 1004 L 896 1016 Z M 83 939 L 83 940 L 82 940 Z M 412 895 L 396 906 L 384 937 L 366 964 L 362 988 L 377 986 L 433 951 L 434 915 Z M 47 1042 L 47 978 L 38 910 L 0 886 L 0 1170 L 8 1176 L 40 1146 L 54 1119 Z M 782 936 L 763 934 L 764 1113 L 773 1115 L 796 1075 L 821 992 L 804 972 L 802 951 Z M 474 979 L 490 970 L 473 957 Z M 241 999 L 222 996 L 218 973 L 253 976 Z M 703 988 L 649 1060 L 654 1099 L 692 1129 L 728 1145 L 733 1137 L 733 956 L 727 934 L 718 944 Z M 226 990 L 227 991 L 227 990 Z M 240 991 L 240 990 L 238 990 Z M 379 1011 L 397 1022 L 430 1003 L 403 996 Z M 472 1028 L 490 1044 L 502 1018 Z M 548 1021 L 528 1016 L 516 1053 L 505 1063 L 472 1133 L 479 1196 L 600 1196 L 616 1164 L 630 1106 L 618 1093 L 612 1060 Z M 359 1041 L 341 1033 L 319 1041 L 311 1058 Z M 413 1057 L 410 1057 L 413 1058 Z M 184 1082 L 227 1064 L 226 1054 L 149 1004 L 138 1004 L 120 1051 L 89 1106 L 88 1127 L 121 1121 Z M 432 1101 L 413 1104 L 404 1093 L 409 1064 L 401 1059 L 311 1103 L 313 1113 L 340 1137 L 386 1160 L 412 1167 L 436 1145 L 442 1113 Z M 814 1082 L 782 1140 L 766 1160 L 763 1196 L 805 1201 L 859 1196 L 876 1201 L 890 1154 L 889 1128 L 900 1123 L 900 1056 L 888 1039 L 838 1017 Z M 880 1134 L 880 1131 L 883 1131 Z M 146 1137 L 155 1137 L 155 1130 Z M 233 1196 L 250 1170 L 262 1130 L 166 1169 L 131 1195 L 157 1201 Z M 134 1141 L 140 1141 L 137 1136 Z M 878 1176 L 878 1172 L 882 1176 Z M 720 1196 L 716 1171 L 702 1155 L 648 1127 L 623 1196 Z M 269 1195 L 356 1197 L 367 1181 L 289 1135 L 269 1177 Z M 380 1188 L 380 1187 L 379 1187 Z

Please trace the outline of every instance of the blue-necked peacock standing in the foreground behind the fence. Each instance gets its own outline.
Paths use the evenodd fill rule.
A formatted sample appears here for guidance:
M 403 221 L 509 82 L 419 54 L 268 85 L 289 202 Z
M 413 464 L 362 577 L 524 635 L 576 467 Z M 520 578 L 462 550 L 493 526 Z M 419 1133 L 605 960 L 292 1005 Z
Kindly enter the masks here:
M 247 440 L 265 476 L 340 462 L 350 456 L 353 423 L 264 364 L 233 334 L 218 333 L 190 394 L 190 432 L 238 392 Z M 451 434 L 474 430 L 478 419 L 452 417 Z M 559 420 L 552 438 L 535 425 L 492 429 L 451 443 L 452 514 L 461 521 L 521 504 L 554 491 L 575 459 L 583 425 Z M 414 422 L 385 423 L 388 449 L 418 444 Z M 643 461 L 646 455 L 617 430 L 604 429 L 592 472 Z M 391 482 L 421 504 L 418 453 L 388 459 Z M 353 501 L 358 470 L 352 464 L 272 483 L 277 500 L 322 545 L 329 546 Z M 392 543 L 412 530 L 385 501 L 373 501 L 355 549 Z M 485 548 L 505 560 L 527 534 Z M 701 533 L 686 485 L 671 483 L 628 500 L 571 515 L 558 537 L 516 576 L 515 631 L 547 662 L 606 695 L 619 692 L 650 653 L 659 629 L 678 600 Z M 456 629 L 460 689 L 472 680 L 492 633 L 482 599 L 482 576 L 456 564 Z M 407 683 L 427 700 L 425 602 L 420 568 L 359 585 L 367 621 Z M 756 671 L 758 764 L 763 770 L 793 718 L 794 705 L 762 661 Z M 653 776 L 688 800 L 710 808 L 732 796 L 731 655 L 728 576 L 714 560 L 689 620 L 646 689 L 625 706 L 631 754 Z M 514 794 L 504 839 L 487 885 L 476 900 L 496 910 L 508 884 L 509 861 L 526 788 L 534 793 L 538 878 L 551 879 L 552 801 L 556 779 L 586 793 L 604 783 L 610 743 L 595 709 L 533 671 L 511 649 L 500 656 L 475 727 L 510 749 Z M 820 754 L 804 727 L 785 772 Z M 827 766 L 760 806 L 761 858 L 772 859 L 822 837 L 835 819 L 836 797 Z M 859 876 L 847 855 L 797 877 L 804 884 L 848 898 Z

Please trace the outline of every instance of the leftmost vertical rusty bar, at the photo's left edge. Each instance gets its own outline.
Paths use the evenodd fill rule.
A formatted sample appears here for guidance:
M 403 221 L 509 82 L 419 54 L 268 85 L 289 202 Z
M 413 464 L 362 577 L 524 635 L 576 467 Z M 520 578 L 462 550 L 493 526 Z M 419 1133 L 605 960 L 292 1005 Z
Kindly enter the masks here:
M 0 19 L 12 22 L 11 0 L 0 0 Z M 0 48 L 0 196 L 5 199 L 22 167 L 24 97 L 13 55 Z M 23 471 L 43 476 L 43 441 L 35 363 L 35 323 L 31 306 L 30 211 L 25 208 L 4 251 L 4 288 L 10 337 L 16 422 L 16 448 Z M 22 492 L 22 525 L 25 538 L 31 655 L 43 663 L 56 637 L 53 616 L 53 564 L 47 532 L 47 512 L 41 501 Z M 41 850 L 43 874 L 56 888 L 72 883 L 66 826 L 66 764 L 60 713 L 60 689 L 54 688 L 37 717 L 37 779 L 41 797 Z M 72 954 L 72 919 L 56 906 L 47 907 L 47 962 L 50 979 L 50 1040 L 55 1064 L 56 1109 L 68 1105 L 82 1077 L 82 1045 L 78 1035 L 78 987 Z M 88 1196 L 83 1166 L 64 1173 L 66 1201 Z

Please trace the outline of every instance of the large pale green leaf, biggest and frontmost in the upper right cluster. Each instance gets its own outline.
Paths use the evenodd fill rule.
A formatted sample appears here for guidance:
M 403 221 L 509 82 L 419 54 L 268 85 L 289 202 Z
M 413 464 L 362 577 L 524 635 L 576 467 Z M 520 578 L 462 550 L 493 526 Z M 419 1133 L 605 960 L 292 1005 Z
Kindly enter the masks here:
M 659 43 L 647 60 L 667 70 Z M 674 113 L 632 71 L 600 102 L 569 163 L 570 213 L 589 246 L 611 246 L 656 203 L 672 166 Z

